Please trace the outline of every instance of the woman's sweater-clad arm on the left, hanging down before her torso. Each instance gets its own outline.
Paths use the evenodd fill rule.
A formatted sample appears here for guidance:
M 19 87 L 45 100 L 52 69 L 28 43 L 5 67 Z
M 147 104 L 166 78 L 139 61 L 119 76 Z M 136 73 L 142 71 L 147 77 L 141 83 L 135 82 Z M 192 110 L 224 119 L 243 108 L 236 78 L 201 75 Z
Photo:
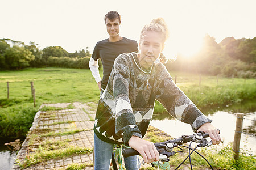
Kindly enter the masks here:
M 136 125 L 133 109 L 129 99 L 130 70 L 132 62 L 127 54 L 119 55 L 112 69 L 112 86 L 115 100 L 115 133 L 122 135 L 123 142 L 128 145 L 132 136 L 142 138 L 141 131 Z

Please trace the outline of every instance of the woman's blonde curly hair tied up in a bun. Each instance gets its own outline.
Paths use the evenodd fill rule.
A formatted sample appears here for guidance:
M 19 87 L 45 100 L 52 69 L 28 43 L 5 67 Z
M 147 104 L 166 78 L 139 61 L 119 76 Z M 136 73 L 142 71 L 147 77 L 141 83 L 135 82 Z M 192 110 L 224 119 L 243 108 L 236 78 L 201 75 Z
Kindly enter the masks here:
M 145 25 L 143 27 L 142 31 L 141 31 L 140 40 L 143 39 L 144 33 L 146 31 L 156 31 L 156 32 L 162 33 L 162 35 L 163 35 L 163 43 L 166 42 L 166 40 L 169 37 L 169 30 L 168 30 L 167 24 L 166 24 L 166 22 L 164 21 L 163 18 L 153 19 L 151 21 L 151 23 Z

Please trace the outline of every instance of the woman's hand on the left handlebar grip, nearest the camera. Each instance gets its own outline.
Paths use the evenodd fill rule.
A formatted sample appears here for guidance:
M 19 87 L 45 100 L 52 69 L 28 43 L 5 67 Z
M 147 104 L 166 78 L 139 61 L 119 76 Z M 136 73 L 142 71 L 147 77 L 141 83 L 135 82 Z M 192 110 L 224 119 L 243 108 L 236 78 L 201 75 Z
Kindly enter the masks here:
M 145 163 L 159 160 L 159 152 L 153 142 L 146 141 L 139 137 L 132 136 L 128 142 L 131 148 L 137 150 L 142 155 Z

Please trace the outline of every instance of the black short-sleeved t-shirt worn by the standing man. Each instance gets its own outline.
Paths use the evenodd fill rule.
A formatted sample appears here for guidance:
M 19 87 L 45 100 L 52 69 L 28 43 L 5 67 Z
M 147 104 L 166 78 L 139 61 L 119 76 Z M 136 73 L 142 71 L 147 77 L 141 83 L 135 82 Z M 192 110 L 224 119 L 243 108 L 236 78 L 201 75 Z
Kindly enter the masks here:
M 101 59 L 103 65 L 103 78 L 101 80 L 101 88 L 105 89 L 108 84 L 109 75 L 112 70 L 114 60 L 122 53 L 131 53 L 138 51 L 138 43 L 134 40 L 127 39 L 125 37 L 117 42 L 109 42 L 109 39 L 105 39 L 97 42 L 92 58 L 97 61 Z

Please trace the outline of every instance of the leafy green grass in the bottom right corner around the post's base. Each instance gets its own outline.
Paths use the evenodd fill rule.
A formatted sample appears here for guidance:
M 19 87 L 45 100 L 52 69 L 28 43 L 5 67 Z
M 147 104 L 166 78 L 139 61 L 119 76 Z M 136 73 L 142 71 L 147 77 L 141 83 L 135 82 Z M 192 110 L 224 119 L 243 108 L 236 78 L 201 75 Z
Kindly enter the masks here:
M 221 148 L 221 149 L 219 149 Z M 214 169 L 255 169 L 256 168 L 256 158 L 255 156 L 246 155 L 246 151 L 240 151 L 240 158 L 236 161 L 233 159 L 234 152 L 232 151 L 232 146 L 228 145 L 225 147 L 214 147 L 210 146 L 208 148 L 198 149 L 201 155 L 212 165 Z M 185 149 L 184 154 L 176 154 L 171 157 L 170 163 L 172 167 L 177 167 L 186 157 L 188 156 L 188 150 Z M 209 167 L 208 163 L 201 158 L 201 156 L 193 153 L 191 155 L 191 162 L 193 169 L 205 169 Z M 189 165 L 189 158 L 184 162 L 185 165 Z M 189 165 L 190 166 L 190 165 Z M 181 166 L 182 167 L 182 166 Z M 210 167 L 209 167 L 210 168 Z

